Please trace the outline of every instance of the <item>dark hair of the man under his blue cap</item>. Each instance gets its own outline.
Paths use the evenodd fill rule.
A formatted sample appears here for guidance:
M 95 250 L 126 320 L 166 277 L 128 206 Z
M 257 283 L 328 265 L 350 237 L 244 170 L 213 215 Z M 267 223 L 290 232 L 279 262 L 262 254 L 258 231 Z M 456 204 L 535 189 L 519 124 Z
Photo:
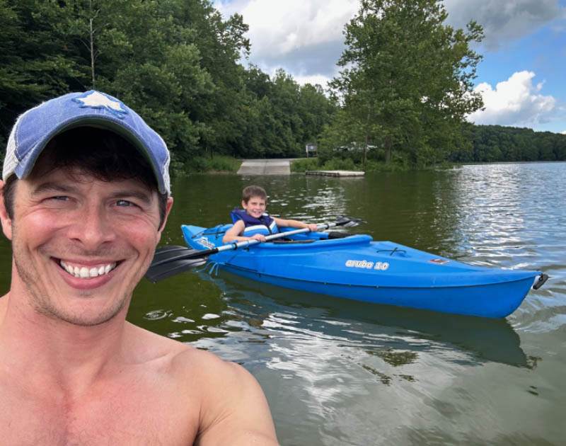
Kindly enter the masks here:
M 40 156 L 49 156 L 50 169 L 69 168 L 88 173 L 100 181 L 138 180 L 157 190 L 157 181 L 149 162 L 127 139 L 110 130 L 76 127 L 47 143 Z M 44 172 L 45 173 L 45 172 Z M 4 204 L 13 219 L 13 197 L 18 178 L 10 176 L 4 184 Z M 167 194 L 158 192 L 159 227 L 163 225 Z

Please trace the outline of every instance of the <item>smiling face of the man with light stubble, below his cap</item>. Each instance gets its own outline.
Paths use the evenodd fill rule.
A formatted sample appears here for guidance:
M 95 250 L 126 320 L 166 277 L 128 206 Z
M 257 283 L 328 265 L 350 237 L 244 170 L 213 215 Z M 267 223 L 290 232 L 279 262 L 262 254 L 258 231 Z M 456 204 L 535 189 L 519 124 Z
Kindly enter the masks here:
M 13 219 L 0 212 L 12 240 L 11 292 L 23 292 L 53 319 L 108 321 L 126 311 L 161 237 L 157 193 L 136 180 L 37 171 L 41 166 L 16 183 Z

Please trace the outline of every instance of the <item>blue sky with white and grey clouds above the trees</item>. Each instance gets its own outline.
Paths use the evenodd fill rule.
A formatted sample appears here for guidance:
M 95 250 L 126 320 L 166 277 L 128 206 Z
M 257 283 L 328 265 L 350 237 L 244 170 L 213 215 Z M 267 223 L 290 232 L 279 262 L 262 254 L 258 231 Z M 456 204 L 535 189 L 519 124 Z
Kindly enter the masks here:
M 476 124 L 529 127 L 566 134 L 566 0 L 444 0 L 447 23 L 475 20 L 485 38 L 475 88 L 485 109 Z M 299 84 L 326 87 L 337 76 L 343 30 L 358 0 L 215 0 L 228 18 L 250 27 L 248 62 L 267 74 L 282 68 Z

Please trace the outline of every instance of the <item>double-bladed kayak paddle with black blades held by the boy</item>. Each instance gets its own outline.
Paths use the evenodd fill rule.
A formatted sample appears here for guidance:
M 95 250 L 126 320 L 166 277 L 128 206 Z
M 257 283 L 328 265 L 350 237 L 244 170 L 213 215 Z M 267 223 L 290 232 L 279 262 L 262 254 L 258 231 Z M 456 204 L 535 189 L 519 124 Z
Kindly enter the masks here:
M 361 219 L 351 217 L 338 217 L 334 223 L 321 223 L 318 224 L 317 230 L 324 231 L 332 227 L 354 227 L 361 223 Z M 294 234 L 301 234 L 303 232 L 310 232 L 308 228 L 295 229 L 294 231 L 280 232 L 265 237 L 265 241 L 281 239 L 282 237 L 291 236 Z M 236 250 L 239 248 L 247 248 L 262 243 L 259 240 L 245 240 L 238 241 L 211 249 L 192 249 L 185 246 L 163 246 L 157 248 L 154 255 L 154 260 L 151 261 L 149 269 L 146 272 L 146 278 L 150 282 L 159 282 L 160 280 L 171 277 L 172 275 L 183 273 L 186 270 L 195 268 L 207 263 L 207 257 L 222 251 Z

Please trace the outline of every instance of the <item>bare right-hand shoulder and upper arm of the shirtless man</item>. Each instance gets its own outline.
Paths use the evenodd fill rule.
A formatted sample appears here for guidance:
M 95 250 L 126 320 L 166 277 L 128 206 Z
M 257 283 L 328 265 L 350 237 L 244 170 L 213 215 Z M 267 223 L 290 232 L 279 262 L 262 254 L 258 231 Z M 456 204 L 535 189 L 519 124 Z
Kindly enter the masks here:
M 275 427 L 265 395 L 255 378 L 241 365 L 142 328 L 130 326 L 149 362 L 167 358 L 168 379 L 179 394 L 191 394 L 200 405 L 199 445 L 277 445 Z

